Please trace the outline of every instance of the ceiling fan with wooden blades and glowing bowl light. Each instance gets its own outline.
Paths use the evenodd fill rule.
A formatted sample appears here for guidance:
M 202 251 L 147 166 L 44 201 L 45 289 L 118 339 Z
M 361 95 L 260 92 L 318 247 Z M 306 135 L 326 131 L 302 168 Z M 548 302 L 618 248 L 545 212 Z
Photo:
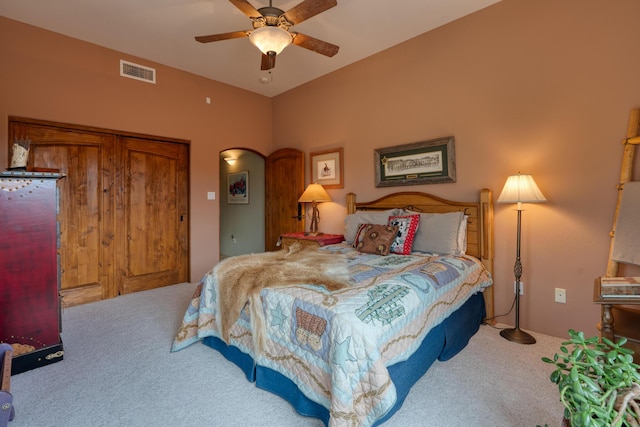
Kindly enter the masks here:
M 196 37 L 197 41 L 209 43 L 249 37 L 251 43 L 262 52 L 261 70 L 270 70 L 275 67 L 276 55 L 290 44 L 329 57 L 338 53 L 338 49 L 340 49 L 334 44 L 290 31 L 294 25 L 336 6 L 337 0 L 304 0 L 287 12 L 273 7 L 271 0 L 269 0 L 269 6 L 260 9 L 253 7 L 247 0 L 229 1 L 251 19 L 253 30 L 198 36 Z

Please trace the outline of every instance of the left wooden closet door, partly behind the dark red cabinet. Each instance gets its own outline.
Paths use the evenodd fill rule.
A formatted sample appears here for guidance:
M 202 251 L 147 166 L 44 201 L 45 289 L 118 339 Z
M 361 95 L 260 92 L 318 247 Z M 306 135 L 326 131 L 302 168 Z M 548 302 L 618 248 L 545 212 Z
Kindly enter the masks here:
M 110 154 L 114 137 L 11 122 L 9 140 L 30 139 L 29 165 L 59 169 L 60 294 L 71 306 L 116 295 Z

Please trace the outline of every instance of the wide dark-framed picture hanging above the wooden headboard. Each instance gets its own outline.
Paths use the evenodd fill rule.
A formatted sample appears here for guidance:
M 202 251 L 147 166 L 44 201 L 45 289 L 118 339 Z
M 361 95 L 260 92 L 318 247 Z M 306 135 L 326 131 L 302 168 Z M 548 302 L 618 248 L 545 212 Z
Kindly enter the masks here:
M 454 138 L 374 150 L 376 187 L 456 182 Z

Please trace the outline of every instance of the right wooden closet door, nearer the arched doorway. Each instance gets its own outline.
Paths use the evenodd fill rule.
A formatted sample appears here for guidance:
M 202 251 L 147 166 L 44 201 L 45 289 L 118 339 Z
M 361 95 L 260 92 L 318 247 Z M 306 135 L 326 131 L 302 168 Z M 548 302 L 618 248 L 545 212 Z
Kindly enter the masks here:
M 117 146 L 119 292 L 188 281 L 188 145 L 121 137 Z

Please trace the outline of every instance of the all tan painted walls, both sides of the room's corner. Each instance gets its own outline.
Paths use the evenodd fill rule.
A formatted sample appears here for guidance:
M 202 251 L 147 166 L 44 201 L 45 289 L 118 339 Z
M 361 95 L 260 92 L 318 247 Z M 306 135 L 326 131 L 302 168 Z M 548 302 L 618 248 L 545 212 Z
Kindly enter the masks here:
M 218 259 L 224 148 L 344 147 L 346 186 L 321 205 L 324 231 L 341 230 L 348 191 L 456 199 L 489 187 L 497 199 L 508 175 L 531 173 L 549 202 L 523 213 L 521 326 L 595 333 L 620 140 L 640 107 L 638 16 L 637 0 L 504 0 L 273 100 L 0 17 L 0 165 L 9 115 L 191 140 L 194 281 Z M 120 78 L 121 58 L 156 67 L 158 84 Z M 374 148 L 445 135 L 456 138 L 456 183 L 374 187 Z M 495 219 L 500 313 L 513 296 L 513 207 L 496 205 Z

